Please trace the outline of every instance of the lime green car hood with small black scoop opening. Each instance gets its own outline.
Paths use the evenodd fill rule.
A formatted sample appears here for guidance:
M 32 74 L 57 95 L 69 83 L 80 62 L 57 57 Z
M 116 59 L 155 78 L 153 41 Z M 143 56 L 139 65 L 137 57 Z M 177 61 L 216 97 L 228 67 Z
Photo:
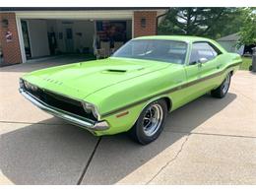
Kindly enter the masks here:
M 107 58 L 32 72 L 24 79 L 43 89 L 81 99 L 120 82 L 143 77 L 168 63 L 127 58 Z

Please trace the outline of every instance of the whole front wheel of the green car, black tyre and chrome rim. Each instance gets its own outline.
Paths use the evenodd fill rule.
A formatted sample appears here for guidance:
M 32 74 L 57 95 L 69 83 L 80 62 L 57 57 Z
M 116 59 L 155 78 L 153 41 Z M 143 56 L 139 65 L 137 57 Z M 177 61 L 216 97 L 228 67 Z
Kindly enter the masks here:
M 138 120 L 130 131 L 131 137 L 142 145 L 155 141 L 163 129 L 167 116 L 165 100 L 151 102 L 141 112 Z

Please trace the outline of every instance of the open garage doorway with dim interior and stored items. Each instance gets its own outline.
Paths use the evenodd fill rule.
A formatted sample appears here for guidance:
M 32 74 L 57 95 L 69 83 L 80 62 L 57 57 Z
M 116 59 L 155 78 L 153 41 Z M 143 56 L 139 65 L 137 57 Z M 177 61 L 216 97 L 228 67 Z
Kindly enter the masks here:
M 107 57 L 132 38 L 131 20 L 21 20 L 26 58 Z

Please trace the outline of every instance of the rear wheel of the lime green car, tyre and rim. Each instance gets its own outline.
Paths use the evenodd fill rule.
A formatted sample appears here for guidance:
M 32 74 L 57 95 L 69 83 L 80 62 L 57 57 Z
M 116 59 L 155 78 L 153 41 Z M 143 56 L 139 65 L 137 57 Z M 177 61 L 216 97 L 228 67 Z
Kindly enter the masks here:
M 211 92 L 211 95 L 214 97 L 223 98 L 228 92 L 230 81 L 231 81 L 231 74 L 228 73 L 222 85 L 218 87 L 216 90 L 213 90 Z

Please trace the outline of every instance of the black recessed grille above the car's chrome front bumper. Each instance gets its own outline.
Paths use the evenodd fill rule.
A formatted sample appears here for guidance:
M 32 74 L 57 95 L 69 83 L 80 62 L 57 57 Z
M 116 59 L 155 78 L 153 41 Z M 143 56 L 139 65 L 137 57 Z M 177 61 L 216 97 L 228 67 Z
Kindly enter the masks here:
M 93 115 L 93 113 L 87 113 L 84 110 L 81 101 L 67 96 L 57 95 L 38 88 L 36 91 L 32 91 L 31 89 L 26 89 L 26 91 L 50 106 L 96 121 L 96 117 Z

